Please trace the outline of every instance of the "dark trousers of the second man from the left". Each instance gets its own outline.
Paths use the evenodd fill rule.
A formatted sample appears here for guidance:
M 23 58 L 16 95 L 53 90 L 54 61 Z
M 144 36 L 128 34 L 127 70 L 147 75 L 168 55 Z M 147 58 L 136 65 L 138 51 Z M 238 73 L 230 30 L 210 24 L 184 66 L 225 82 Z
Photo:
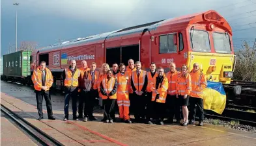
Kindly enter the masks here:
M 65 117 L 68 118 L 68 106 L 70 98 L 72 98 L 72 112 L 73 119 L 76 119 L 76 111 L 77 111 L 77 99 L 78 99 L 78 90 L 71 90 L 70 88 L 65 87 L 65 99 L 64 99 L 64 114 Z

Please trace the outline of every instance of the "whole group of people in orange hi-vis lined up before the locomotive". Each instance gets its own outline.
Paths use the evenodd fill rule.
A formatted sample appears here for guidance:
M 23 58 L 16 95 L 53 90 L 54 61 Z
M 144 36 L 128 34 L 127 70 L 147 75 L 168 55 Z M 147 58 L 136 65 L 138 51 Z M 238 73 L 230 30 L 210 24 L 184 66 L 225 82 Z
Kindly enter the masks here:
M 100 71 L 96 71 L 96 63 L 91 67 L 83 60 L 81 67 L 76 67 L 76 60 L 71 60 L 70 66 L 63 71 L 64 84 L 64 121 L 68 120 L 68 105 L 72 98 L 73 120 L 96 120 L 93 116 L 95 97 L 100 97 L 100 105 L 104 111 L 102 121 L 113 123 L 115 119 L 115 104 L 119 108 L 119 118 L 124 123 L 132 123 L 130 113 L 134 114 L 135 123 L 159 124 L 176 123 L 186 126 L 195 123 L 195 105 L 199 108 L 199 125 L 203 126 L 203 99 L 201 91 L 207 82 L 199 64 L 193 64 L 192 71 L 182 65 L 177 71 L 174 62 L 169 64 L 166 74 L 163 67 L 156 69 L 156 64 L 150 64 L 150 71 L 141 69 L 141 62 L 128 60 L 128 66 L 113 64 L 113 71 L 104 63 Z M 43 118 L 42 97 L 46 100 L 48 119 L 55 119 L 52 114 L 49 89 L 53 83 L 51 71 L 46 63 L 41 62 L 32 80 L 36 90 L 36 101 L 39 120 Z M 77 97 L 79 95 L 78 117 Z M 190 114 L 188 112 L 190 104 Z M 166 112 L 167 111 L 167 112 Z M 182 111 L 182 114 L 181 114 Z M 164 118 L 167 119 L 164 121 Z M 188 118 L 190 117 L 190 118 Z M 181 120 L 183 118 L 183 121 Z M 190 119 L 190 121 L 188 121 Z M 181 123 L 182 121 L 182 123 Z

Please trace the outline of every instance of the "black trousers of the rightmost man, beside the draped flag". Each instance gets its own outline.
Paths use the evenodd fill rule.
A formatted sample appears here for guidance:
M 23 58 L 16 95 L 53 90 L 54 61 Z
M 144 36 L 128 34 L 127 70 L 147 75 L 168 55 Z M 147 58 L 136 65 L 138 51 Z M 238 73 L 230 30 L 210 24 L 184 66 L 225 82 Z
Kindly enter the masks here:
M 190 120 L 195 120 L 195 104 L 199 108 L 199 121 L 203 121 L 203 99 L 190 97 Z

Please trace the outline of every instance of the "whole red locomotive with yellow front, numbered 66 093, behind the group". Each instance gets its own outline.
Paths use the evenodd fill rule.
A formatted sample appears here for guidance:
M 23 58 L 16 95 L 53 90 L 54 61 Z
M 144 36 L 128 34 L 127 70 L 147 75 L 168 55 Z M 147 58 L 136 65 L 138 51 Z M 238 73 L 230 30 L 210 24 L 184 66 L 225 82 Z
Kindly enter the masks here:
M 76 60 L 78 67 L 82 60 L 96 62 L 100 69 L 104 62 L 128 65 L 130 58 L 147 70 L 155 62 L 165 72 L 171 62 L 177 69 L 186 64 L 190 70 L 197 62 L 208 80 L 230 84 L 236 62 L 232 35 L 229 23 L 218 12 L 208 10 L 57 43 L 31 55 L 35 67 L 46 61 L 59 89 L 61 72 L 70 60 Z

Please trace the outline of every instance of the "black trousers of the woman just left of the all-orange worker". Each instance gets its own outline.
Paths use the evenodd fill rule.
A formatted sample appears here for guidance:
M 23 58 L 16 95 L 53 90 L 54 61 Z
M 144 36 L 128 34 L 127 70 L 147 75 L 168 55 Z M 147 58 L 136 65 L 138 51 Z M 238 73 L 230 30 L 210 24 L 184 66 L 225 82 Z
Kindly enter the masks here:
M 104 109 L 104 120 L 107 119 L 114 119 L 115 117 L 115 101 L 117 101 L 117 99 L 102 99 L 102 107 Z

